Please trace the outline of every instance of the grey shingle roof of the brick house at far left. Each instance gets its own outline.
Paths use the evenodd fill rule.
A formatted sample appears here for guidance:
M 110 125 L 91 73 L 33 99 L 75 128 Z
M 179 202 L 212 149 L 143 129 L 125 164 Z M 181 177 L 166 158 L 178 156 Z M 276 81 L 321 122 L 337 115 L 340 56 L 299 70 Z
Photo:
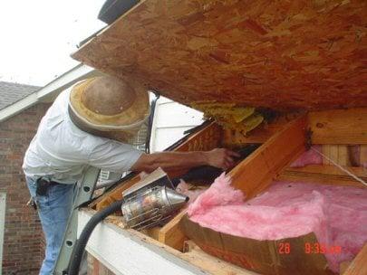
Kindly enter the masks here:
M 0 109 L 5 109 L 39 89 L 37 86 L 0 81 Z

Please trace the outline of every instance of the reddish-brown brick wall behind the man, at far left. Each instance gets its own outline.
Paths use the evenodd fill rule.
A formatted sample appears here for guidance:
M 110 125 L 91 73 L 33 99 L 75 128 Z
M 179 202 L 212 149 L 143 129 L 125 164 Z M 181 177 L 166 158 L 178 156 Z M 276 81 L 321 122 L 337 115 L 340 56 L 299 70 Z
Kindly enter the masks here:
M 6 193 L 4 275 L 38 274 L 43 233 L 29 199 L 22 170 L 26 148 L 49 104 L 40 103 L 0 122 L 0 192 Z

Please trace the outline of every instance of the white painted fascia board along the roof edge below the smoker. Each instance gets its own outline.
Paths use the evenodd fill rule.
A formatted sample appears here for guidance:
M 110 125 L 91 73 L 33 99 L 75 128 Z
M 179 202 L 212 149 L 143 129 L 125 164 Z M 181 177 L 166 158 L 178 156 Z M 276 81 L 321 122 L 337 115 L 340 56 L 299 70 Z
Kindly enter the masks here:
M 79 233 L 91 217 L 92 213 L 88 211 L 79 212 Z M 144 239 L 144 235 L 140 237 L 112 223 L 103 222 L 92 232 L 86 250 L 116 275 L 208 274 L 164 248 L 144 242 Z

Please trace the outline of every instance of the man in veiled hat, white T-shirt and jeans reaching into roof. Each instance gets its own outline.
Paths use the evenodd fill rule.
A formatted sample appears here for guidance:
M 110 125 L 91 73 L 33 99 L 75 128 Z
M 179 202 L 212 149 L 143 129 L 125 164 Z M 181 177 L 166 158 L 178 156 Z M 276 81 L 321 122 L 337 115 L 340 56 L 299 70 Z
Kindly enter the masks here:
M 108 171 L 150 172 L 216 166 L 227 169 L 237 153 L 144 154 L 129 145 L 150 113 L 149 95 L 112 77 L 82 81 L 64 90 L 47 110 L 24 156 L 24 174 L 37 204 L 46 251 L 41 275 L 52 273 L 71 213 L 74 185 L 88 166 Z

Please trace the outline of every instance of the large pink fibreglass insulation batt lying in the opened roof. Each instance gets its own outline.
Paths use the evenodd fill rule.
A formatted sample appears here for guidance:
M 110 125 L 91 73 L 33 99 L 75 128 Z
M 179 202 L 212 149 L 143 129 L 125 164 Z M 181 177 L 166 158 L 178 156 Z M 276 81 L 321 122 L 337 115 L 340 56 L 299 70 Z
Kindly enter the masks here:
M 274 182 L 244 203 L 222 174 L 188 206 L 188 215 L 203 227 L 259 241 L 314 232 L 325 247 L 342 247 L 341 253 L 325 253 L 334 272 L 367 242 L 367 189 L 350 186 Z

